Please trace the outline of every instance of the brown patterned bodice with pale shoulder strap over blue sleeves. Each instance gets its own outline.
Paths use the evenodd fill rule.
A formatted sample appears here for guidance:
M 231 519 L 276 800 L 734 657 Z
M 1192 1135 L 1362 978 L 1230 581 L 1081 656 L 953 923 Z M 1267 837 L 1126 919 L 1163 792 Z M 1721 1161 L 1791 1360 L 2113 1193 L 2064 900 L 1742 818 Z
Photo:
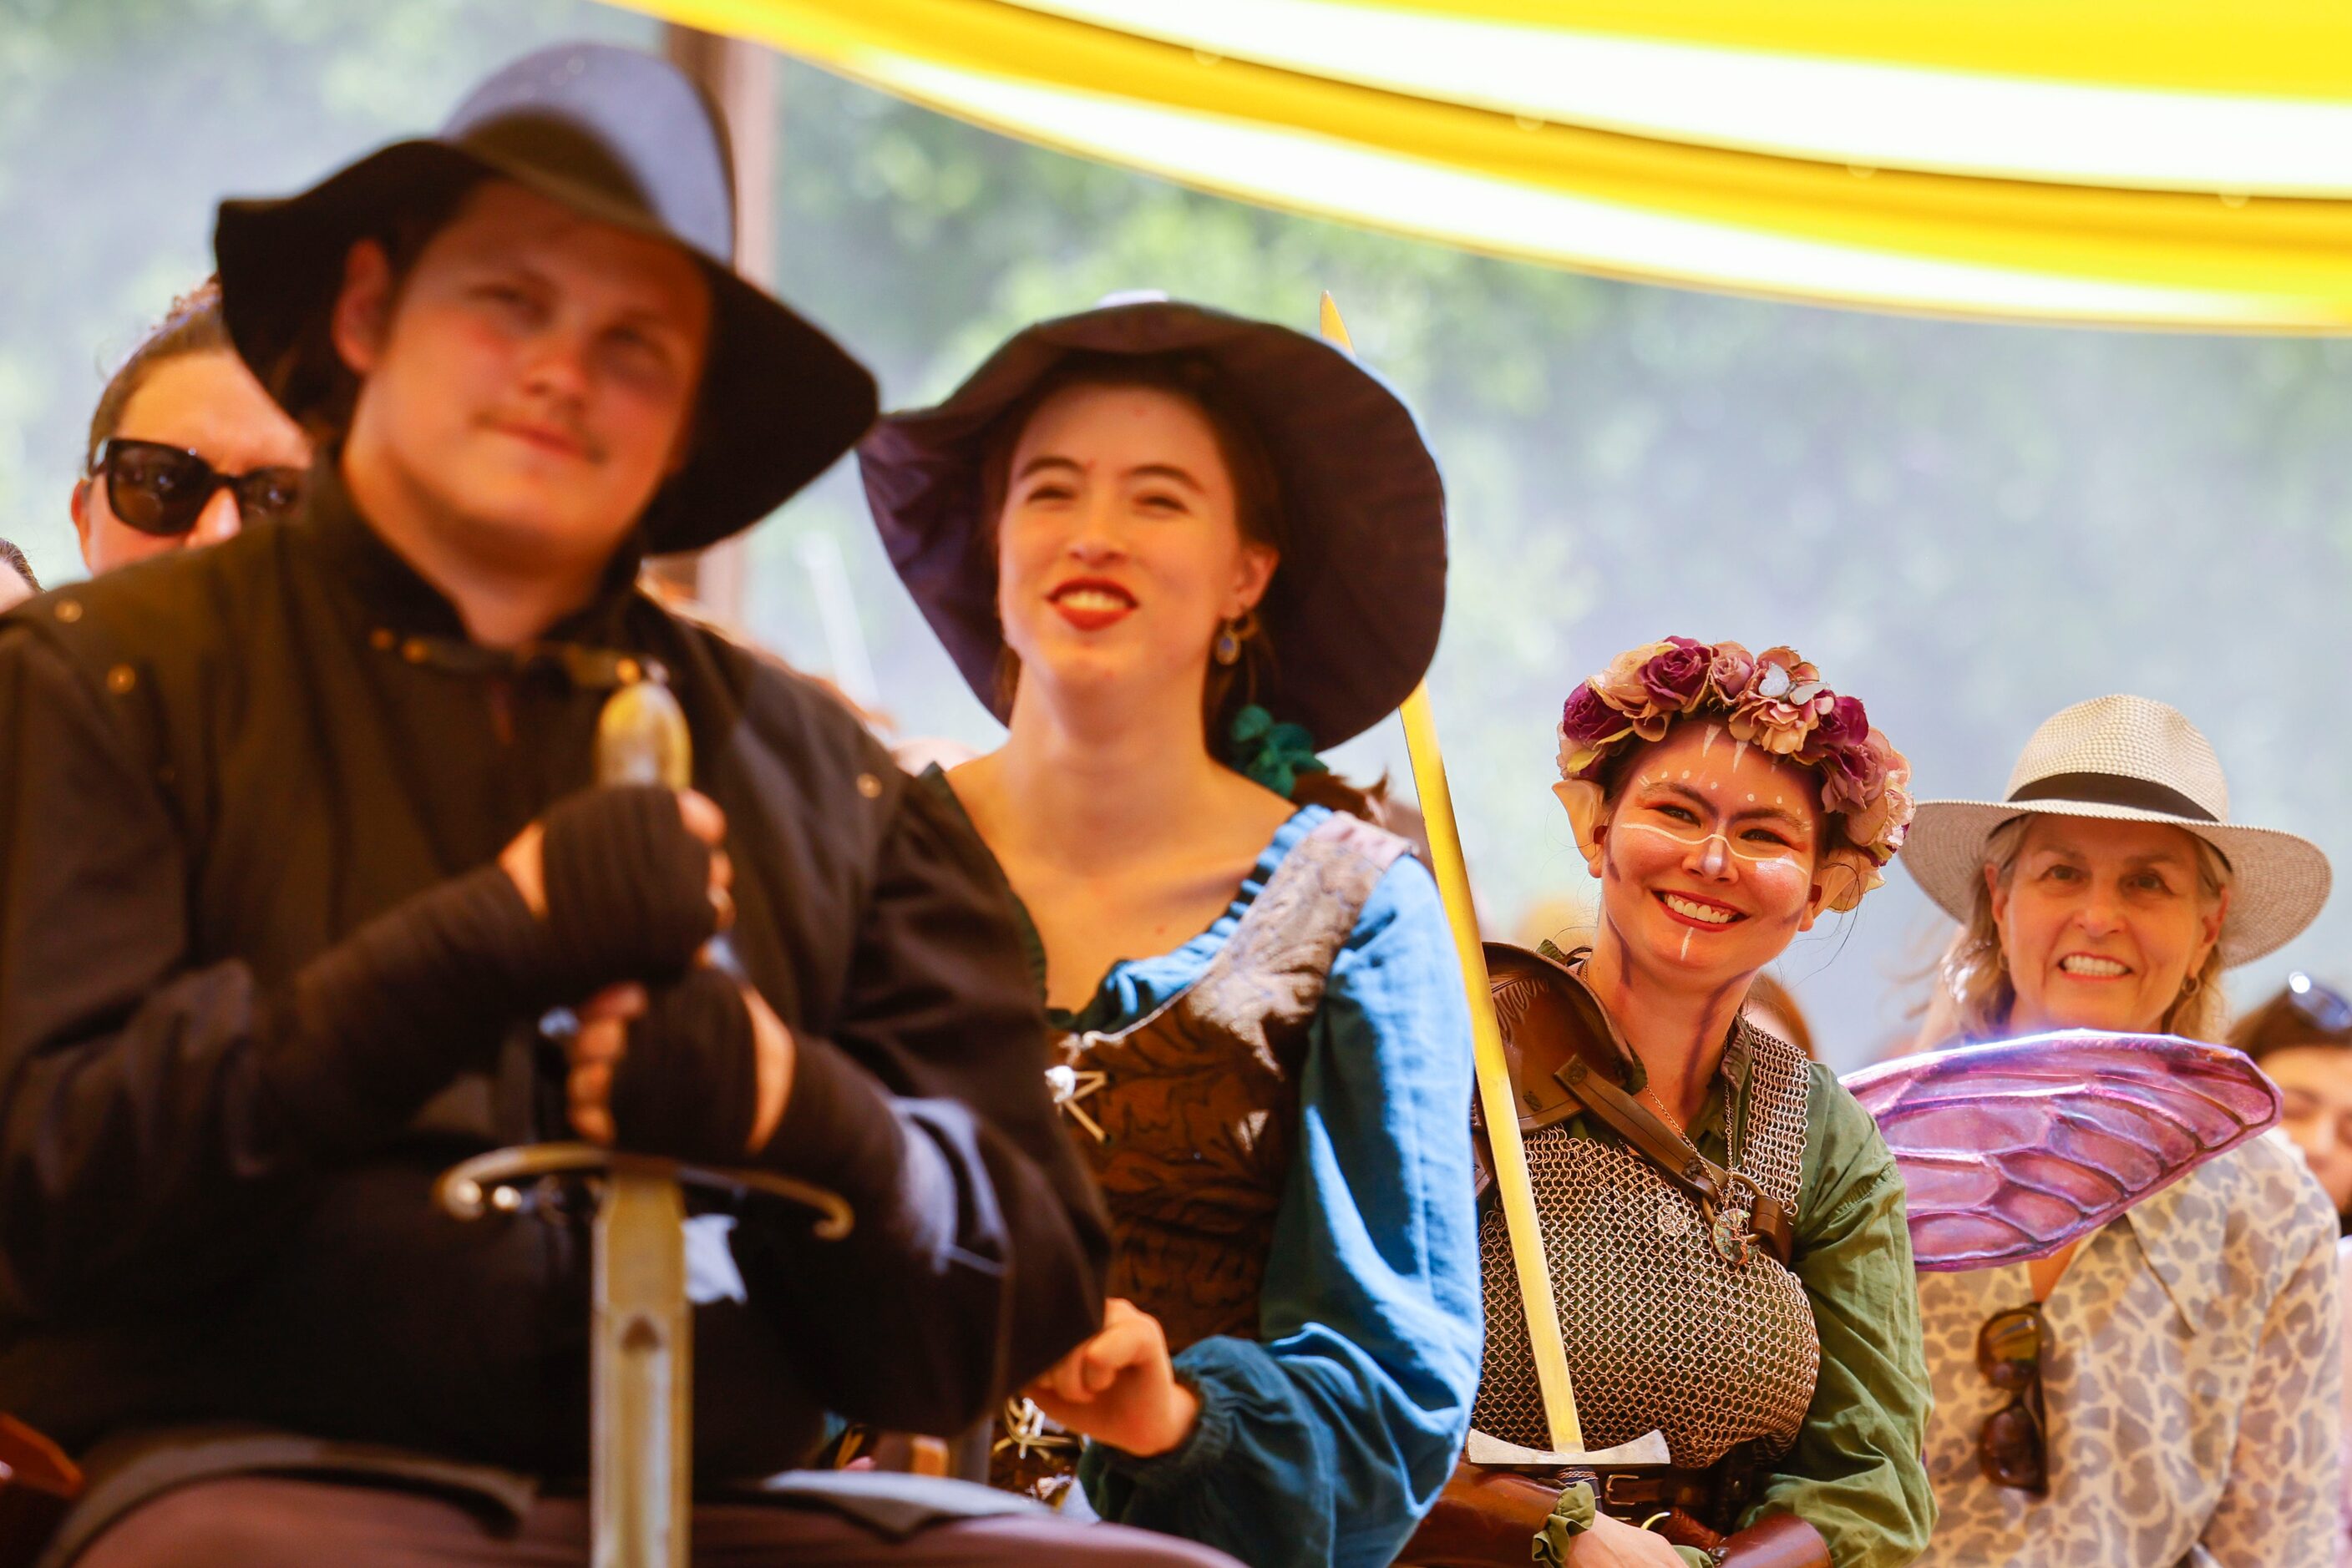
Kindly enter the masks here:
M 1282 858 L 1192 985 L 1054 1051 L 1054 1098 L 1110 1208 L 1108 1293 L 1157 1316 L 1171 1352 L 1258 1333 L 1308 1025 L 1331 959 L 1404 851 L 1392 832 L 1334 813 Z M 1000 1436 L 997 1483 L 1037 1490 L 1035 1474 L 1063 1469 L 1007 1474 L 1028 1446 Z

